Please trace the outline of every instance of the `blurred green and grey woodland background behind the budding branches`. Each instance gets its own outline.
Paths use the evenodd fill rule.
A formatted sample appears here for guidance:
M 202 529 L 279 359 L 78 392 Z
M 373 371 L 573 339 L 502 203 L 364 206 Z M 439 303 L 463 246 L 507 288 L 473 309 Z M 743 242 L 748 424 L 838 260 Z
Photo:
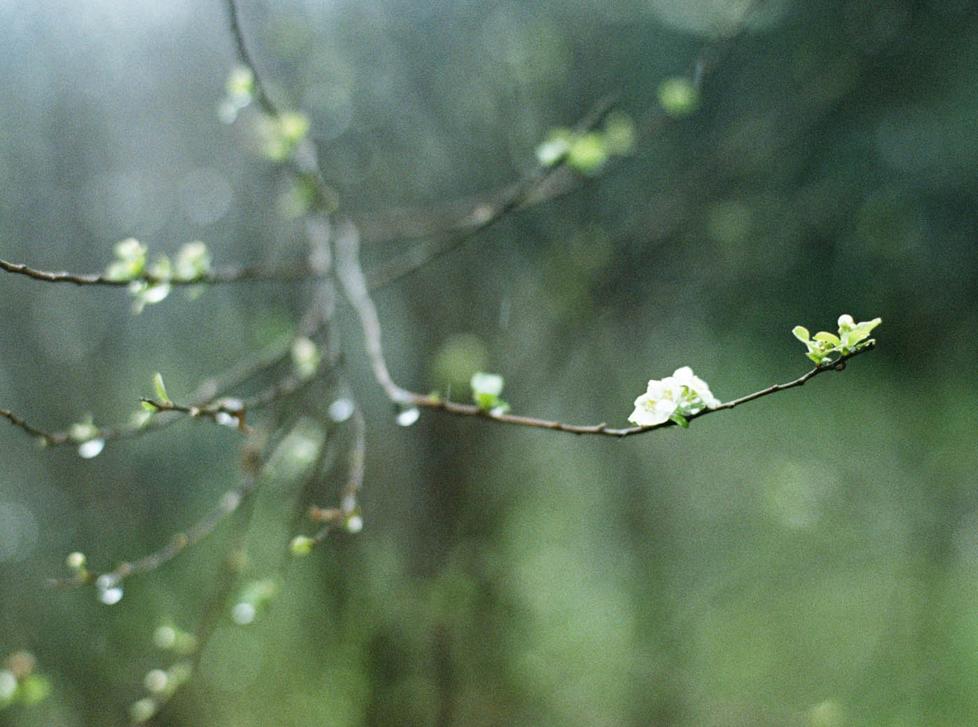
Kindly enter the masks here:
M 202 239 L 217 263 L 302 254 L 286 174 L 217 119 L 221 3 L 22 5 L 0 4 L 0 256 L 95 272 L 129 235 Z M 635 153 L 578 192 L 378 294 L 405 386 L 443 387 L 439 353 L 475 336 L 516 412 L 624 425 L 649 377 L 689 364 L 733 399 L 807 370 L 792 326 L 883 323 L 842 374 L 623 441 L 433 412 L 399 428 L 345 325 L 366 527 L 289 562 L 255 623 L 222 624 L 160 724 L 973 720 L 978 8 L 769 4 L 697 112 L 666 118 L 658 84 L 742 7 L 243 0 L 273 95 L 310 113 L 365 230 L 505 187 L 608 93 L 636 121 Z M 307 292 L 215 288 L 136 317 L 123 291 L 0 278 L 0 406 L 109 423 L 156 370 L 179 398 Z M 156 626 L 200 614 L 223 531 L 115 606 L 44 579 L 71 550 L 108 568 L 188 527 L 236 482 L 238 441 L 186 423 L 83 461 L 0 427 L 0 655 L 31 651 L 53 684 L 0 721 L 124 723 L 169 659 Z M 259 499 L 258 553 L 294 535 L 280 494 Z

